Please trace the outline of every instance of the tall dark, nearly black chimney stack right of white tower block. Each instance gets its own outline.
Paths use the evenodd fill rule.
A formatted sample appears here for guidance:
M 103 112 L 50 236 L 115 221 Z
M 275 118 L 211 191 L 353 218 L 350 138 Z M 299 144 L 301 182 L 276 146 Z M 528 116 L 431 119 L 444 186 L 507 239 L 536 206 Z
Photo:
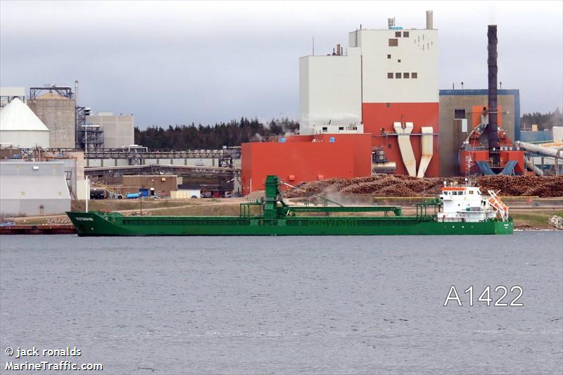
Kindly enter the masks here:
M 497 124 L 497 25 L 488 25 L 488 149 L 493 164 L 498 164 L 498 124 Z M 493 153 L 491 153 L 493 152 Z

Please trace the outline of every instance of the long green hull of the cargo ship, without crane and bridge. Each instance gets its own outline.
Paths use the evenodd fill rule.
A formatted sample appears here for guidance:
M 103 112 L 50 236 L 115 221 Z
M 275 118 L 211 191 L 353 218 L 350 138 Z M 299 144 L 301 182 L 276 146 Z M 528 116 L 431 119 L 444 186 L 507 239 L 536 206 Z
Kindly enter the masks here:
M 112 212 L 67 212 L 79 236 L 374 236 L 512 234 L 512 220 L 436 222 L 432 217 L 125 217 Z

